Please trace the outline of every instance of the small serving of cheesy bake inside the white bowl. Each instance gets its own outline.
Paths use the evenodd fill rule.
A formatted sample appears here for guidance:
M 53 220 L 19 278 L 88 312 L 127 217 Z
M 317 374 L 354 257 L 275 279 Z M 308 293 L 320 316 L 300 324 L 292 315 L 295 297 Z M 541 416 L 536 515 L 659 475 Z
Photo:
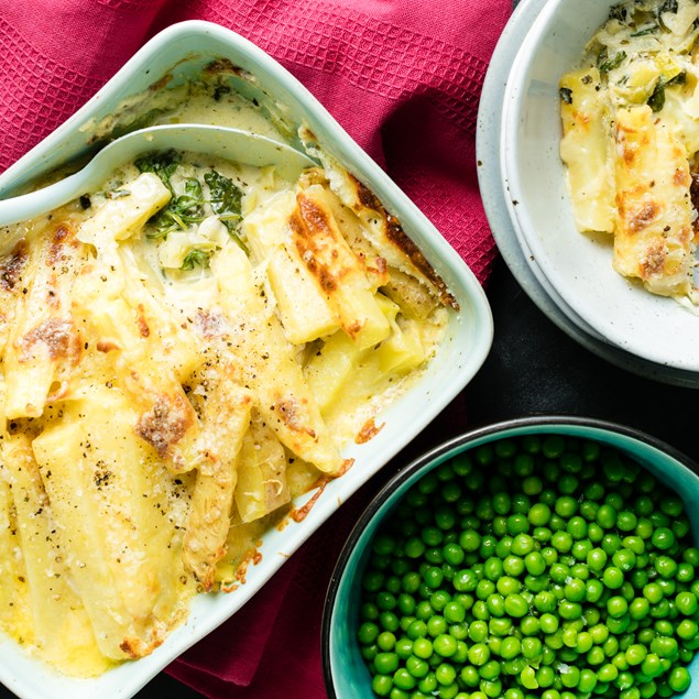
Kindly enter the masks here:
M 613 233 L 619 273 L 693 304 L 698 40 L 693 0 L 623 2 L 560 80 L 578 228 Z

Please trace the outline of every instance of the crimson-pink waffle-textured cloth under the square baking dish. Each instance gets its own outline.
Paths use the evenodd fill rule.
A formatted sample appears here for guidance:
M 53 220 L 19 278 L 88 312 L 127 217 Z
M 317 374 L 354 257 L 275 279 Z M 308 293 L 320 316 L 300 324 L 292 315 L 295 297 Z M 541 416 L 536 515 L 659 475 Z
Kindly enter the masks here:
M 484 282 L 495 248 L 478 192 L 476 118 L 510 11 L 511 0 L 0 0 L 0 171 L 154 33 L 209 20 L 250 39 L 305 84 Z M 441 428 L 437 421 L 426 438 Z M 365 485 L 250 604 L 168 671 L 211 698 L 324 697 L 325 589 L 380 482 Z

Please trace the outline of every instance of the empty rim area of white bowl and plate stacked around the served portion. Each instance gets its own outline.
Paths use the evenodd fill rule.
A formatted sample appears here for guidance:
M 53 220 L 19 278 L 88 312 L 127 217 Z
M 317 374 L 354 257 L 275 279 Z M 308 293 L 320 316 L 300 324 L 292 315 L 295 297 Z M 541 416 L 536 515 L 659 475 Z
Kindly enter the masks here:
M 580 233 L 559 156 L 558 80 L 610 0 L 524 0 L 493 54 L 478 124 L 479 181 L 498 247 L 534 303 L 581 345 L 646 378 L 699 387 L 699 315 L 612 267 Z

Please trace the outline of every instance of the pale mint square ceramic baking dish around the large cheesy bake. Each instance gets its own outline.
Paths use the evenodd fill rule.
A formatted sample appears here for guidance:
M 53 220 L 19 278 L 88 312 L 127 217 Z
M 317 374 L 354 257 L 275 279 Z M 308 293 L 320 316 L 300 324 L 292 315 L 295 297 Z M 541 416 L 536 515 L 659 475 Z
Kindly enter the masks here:
M 267 532 L 260 548 L 261 561 L 250 566 L 244 585 L 230 593 L 198 596 L 186 623 L 152 655 L 96 679 L 61 676 L 13 642 L 0 642 L 0 681 L 23 699 L 133 696 L 240 609 L 342 502 L 419 434 L 468 384 L 491 346 L 492 317 L 485 295 L 428 219 L 291 74 L 247 40 L 211 23 L 184 22 L 152 39 L 89 102 L 0 176 L 0 196 L 31 188 L 39 177 L 89 153 L 103 141 L 100 129 L 111 123 L 112 114 L 127 114 L 128 125 L 130 113 L 138 120 L 148 111 L 143 95 L 193 79 L 214 61 L 228 61 L 240 68 L 245 74 L 240 89 L 267 100 L 270 110 L 285 121 L 307 125 L 323 148 L 379 197 L 444 278 L 459 310 L 450 312 L 446 338 L 419 382 L 380 416 L 385 422 L 383 429 L 369 443 L 346 451 L 356 460 L 352 469 L 327 485 L 303 522 Z M 124 105 L 131 105 L 130 110 Z M 290 140 L 294 142 L 292 135 Z M 313 493 L 306 494 L 296 504 L 303 505 L 310 496 Z

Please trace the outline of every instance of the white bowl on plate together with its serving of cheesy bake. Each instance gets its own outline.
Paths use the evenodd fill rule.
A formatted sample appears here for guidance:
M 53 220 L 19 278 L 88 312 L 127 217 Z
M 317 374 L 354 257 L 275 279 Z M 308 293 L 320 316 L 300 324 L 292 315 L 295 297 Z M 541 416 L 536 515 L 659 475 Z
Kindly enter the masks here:
M 692 386 L 697 12 L 523 3 L 520 44 L 498 50 L 502 116 L 481 141 L 507 211 L 494 236 L 549 317 L 614 363 Z

